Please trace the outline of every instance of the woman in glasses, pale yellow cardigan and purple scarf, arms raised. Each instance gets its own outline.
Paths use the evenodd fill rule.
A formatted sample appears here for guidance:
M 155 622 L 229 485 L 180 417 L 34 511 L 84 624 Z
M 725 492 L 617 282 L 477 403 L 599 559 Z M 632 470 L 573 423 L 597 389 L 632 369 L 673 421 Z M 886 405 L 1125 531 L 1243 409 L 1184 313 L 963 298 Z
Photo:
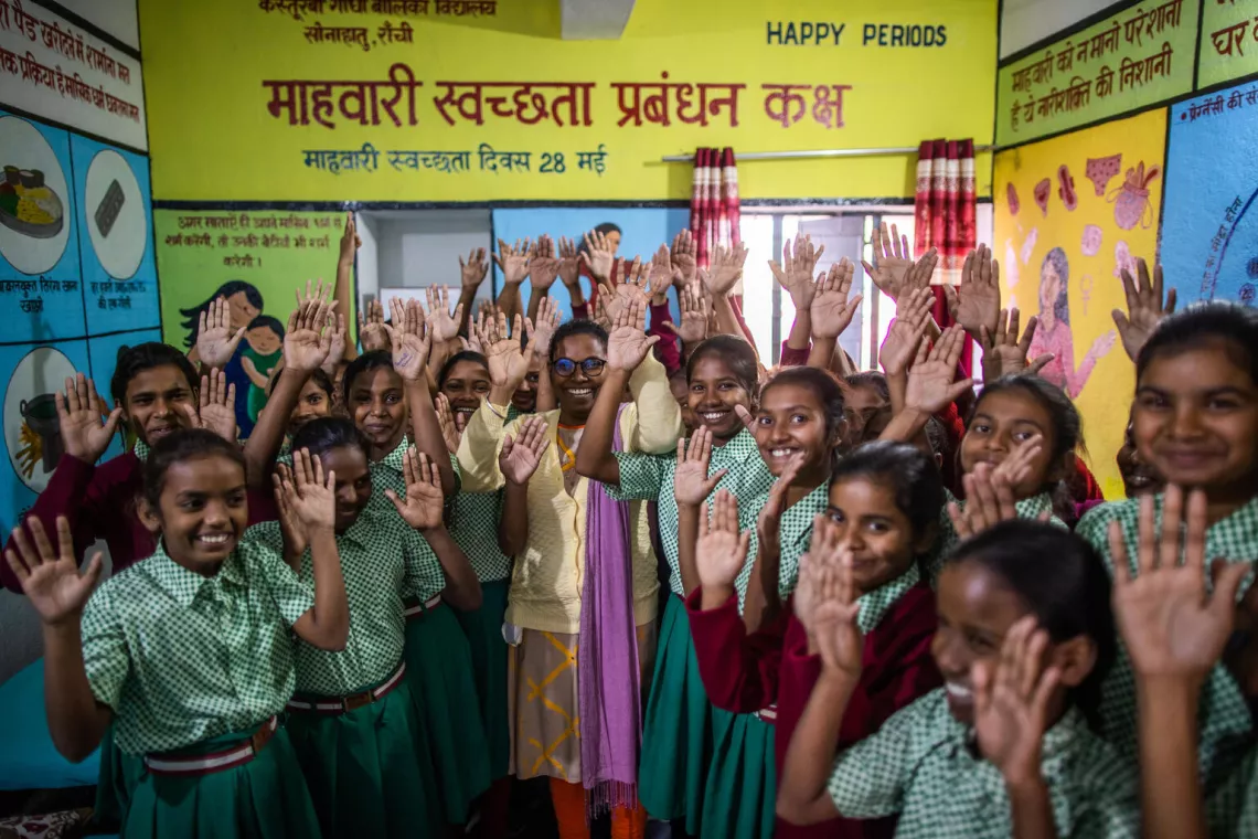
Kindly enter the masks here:
M 658 591 L 648 511 L 642 502 L 610 498 L 576 470 L 604 387 L 619 395 L 628 382 L 634 396 L 619 409 L 619 448 L 664 453 L 677 444 L 681 414 L 664 367 L 648 357 L 655 338 L 643 332 L 644 319 L 642 307 L 621 312 L 610 346 L 608 332 L 590 321 L 555 331 L 547 361 L 559 409 L 535 415 L 555 445 L 542 452 L 527 487 L 507 484 L 498 459 L 522 428 L 522 420 L 506 421 L 528 370 L 518 340 L 487 347 L 492 389 L 459 443 L 465 491 L 507 486 L 499 543 L 515 556 L 506 614 L 513 642 L 513 770 L 520 779 L 551 779 L 565 836 L 589 835 L 587 811 L 601 809 L 613 809 L 615 835 L 642 836 L 645 829 L 645 814 L 634 805 L 638 664 L 650 672 Z M 518 335 L 518 317 L 515 327 Z M 498 331 L 506 333 L 501 316 Z

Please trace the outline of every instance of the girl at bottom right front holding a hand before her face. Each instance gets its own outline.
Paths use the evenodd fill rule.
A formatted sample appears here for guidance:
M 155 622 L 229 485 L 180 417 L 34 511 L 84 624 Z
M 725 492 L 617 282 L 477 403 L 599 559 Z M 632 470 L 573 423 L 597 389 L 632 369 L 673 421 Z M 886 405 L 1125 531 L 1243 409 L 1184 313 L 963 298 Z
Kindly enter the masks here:
M 905 839 L 1138 835 L 1135 777 L 1089 730 L 1115 638 L 1110 581 L 1086 542 L 1020 520 L 962 542 L 938 580 L 944 688 L 838 755 L 864 642 L 855 557 L 827 572 L 821 673 L 786 751 L 784 819 L 897 815 Z

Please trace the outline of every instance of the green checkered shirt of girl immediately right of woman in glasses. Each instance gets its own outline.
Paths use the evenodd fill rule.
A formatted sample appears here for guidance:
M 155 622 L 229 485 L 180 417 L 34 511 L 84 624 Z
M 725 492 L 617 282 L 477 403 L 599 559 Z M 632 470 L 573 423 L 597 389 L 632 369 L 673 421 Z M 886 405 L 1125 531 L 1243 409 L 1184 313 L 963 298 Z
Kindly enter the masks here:
M 620 463 L 620 487 L 605 484 L 608 496 L 616 501 L 658 502 L 659 541 L 668 562 L 668 586 L 673 594 L 686 596 L 678 565 L 677 498 L 673 496 L 673 478 L 677 474 L 677 457 L 665 454 L 640 454 L 616 452 Z M 740 430 L 725 445 L 712 448 L 708 474 L 728 469 L 716 489 L 728 489 L 738 499 L 740 507 L 767 497 L 774 477 L 760 457 L 756 438 L 746 429 Z M 716 492 L 716 491 L 713 491 Z M 711 496 L 710 496 L 711 498 Z M 759 511 L 759 507 L 756 508 Z M 811 521 L 809 521 L 811 525 Z

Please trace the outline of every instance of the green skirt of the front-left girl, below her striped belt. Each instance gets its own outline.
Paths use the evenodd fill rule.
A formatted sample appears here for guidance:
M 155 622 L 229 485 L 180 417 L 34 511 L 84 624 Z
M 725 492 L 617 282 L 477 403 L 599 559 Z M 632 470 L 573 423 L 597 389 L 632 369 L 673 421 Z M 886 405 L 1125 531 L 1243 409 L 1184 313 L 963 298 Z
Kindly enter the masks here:
M 253 731 L 234 732 L 171 752 L 186 757 L 231 748 Z M 321 835 L 314 805 L 281 726 L 252 761 L 195 777 L 146 772 L 122 829 L 127 839 L 309 839 Z

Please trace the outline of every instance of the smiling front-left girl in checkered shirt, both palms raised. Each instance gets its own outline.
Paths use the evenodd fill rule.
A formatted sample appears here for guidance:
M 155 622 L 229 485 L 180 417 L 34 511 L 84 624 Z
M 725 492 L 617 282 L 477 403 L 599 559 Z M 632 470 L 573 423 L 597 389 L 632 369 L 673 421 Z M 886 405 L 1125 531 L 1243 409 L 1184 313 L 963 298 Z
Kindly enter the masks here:
M 112 721 L 118 747 L 143 760 L 125 835 L 318 835 L 279 716 L 289 630 L 326 650 L 348 633 L 333 483 L 316 470 L 284 489 L 312 580 L 245 532 L 240 449 L 204 429 L 153 447 L 140 514 L 161 541 L 94 594 L 101 557 L 79 575 L 64 517 L 55 552 L 36 518 L 30 538 L 14 530 L 6 558 L 43 620 L 53 742 L 81 761 Z

